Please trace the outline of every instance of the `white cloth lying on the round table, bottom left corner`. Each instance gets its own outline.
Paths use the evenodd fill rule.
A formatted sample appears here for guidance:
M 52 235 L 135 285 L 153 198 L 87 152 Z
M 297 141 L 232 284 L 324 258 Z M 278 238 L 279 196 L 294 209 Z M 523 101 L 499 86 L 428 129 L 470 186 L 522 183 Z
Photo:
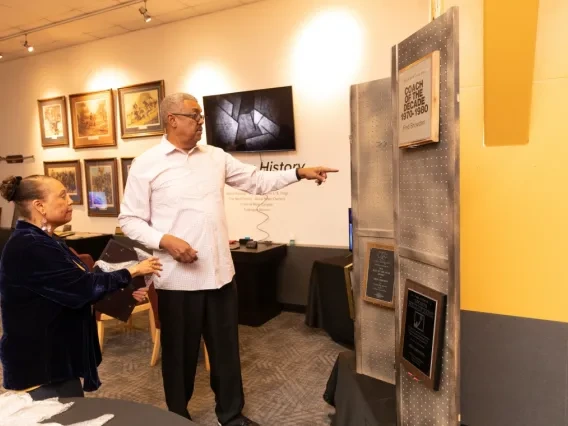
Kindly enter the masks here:
M 34 401 L 27 393 L 7 392 L 0 395 L 0 426 L 62 426 L 59 423 L 40 423 L 71 408 L 73 402 L 63 404 L 58 398 Z M 102 426 L 114 414 L 105 414 L 93 420 L 72 426 Z

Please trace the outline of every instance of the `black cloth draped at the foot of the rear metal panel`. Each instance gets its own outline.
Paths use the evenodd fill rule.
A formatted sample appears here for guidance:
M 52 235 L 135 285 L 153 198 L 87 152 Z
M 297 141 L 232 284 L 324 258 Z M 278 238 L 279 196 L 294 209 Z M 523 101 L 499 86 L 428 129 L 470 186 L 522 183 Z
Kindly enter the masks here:
M 335 407 L 333 426 L 396 426 L 396 388 L 355 371 L 355 353 L 337 357 L 323 399 Z

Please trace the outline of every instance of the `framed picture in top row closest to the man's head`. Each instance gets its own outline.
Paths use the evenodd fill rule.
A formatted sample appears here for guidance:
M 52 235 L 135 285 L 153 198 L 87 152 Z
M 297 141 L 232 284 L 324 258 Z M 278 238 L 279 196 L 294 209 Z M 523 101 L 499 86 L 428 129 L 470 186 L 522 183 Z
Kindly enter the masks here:
M 164 133 L 160 103 L 164 99 L 164 80 L 118 89 L 121 138 L 158 136 Z

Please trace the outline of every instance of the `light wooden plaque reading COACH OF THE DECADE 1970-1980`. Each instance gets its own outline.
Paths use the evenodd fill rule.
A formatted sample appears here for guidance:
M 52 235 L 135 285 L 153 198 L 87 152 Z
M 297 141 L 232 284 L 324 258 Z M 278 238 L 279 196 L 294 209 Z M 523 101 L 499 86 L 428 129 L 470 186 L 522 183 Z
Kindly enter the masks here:
M 398 146 L 440 140 L 440 51 L 398 72 Z

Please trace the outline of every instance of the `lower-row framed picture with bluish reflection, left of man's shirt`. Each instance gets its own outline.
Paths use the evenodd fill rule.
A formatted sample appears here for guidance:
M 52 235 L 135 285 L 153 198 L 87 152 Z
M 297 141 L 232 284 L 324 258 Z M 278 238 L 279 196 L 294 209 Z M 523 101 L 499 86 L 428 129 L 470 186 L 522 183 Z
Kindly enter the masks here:
M 116 158 L 85 160 L 87 214 L 113 216 L 120 212 Z

